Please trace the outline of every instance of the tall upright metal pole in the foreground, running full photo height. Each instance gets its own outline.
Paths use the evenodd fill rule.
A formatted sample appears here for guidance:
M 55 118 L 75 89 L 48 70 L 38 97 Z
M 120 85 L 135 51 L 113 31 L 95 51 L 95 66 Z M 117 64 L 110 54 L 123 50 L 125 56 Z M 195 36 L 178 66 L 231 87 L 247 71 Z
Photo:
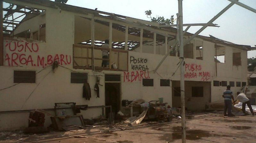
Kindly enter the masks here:
M 186 115 L 185 115 L 185 82 L 184 82 L 184 45 L 183 45 L 183 17 L 182 17 L 182 0 L 179 1 L 179 54 L 180 54 L 180 72 L 181 72 L 181 135 L 182 143 L 186 143 Z

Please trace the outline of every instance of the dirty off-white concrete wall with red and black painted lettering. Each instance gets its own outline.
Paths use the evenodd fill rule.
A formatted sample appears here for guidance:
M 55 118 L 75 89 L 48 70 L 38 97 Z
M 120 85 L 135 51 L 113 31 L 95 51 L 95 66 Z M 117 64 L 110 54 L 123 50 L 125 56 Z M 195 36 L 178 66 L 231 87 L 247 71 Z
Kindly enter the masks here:
M 22 3 L 22 2 L 19 2 Z M 22 45 L 25 48 L 26 41 L 16 41 L 17 47 L 15 49 L 15 40 L 5 42 L 4 55 L 5 66 L 0 67 L 0 72 L 4 73 L 0 75 L 0 89 L 14 85 L 13 83 L 13 70 L 34 70 L 36 72 L 41 71 L 36 75 L 36 83 L 20 83 L 12 88 L 8 88 L 0 91 L 0 111 L 7 110 L 27 110 L 27 109 L 45 109 L 53 108 L 55 102 L 76 102 L 77 105 L 87 104 L 88 106 L 102 106 L 105 105 L 105 86 L 104 86 L 104 75 L 120 74 L 121 75 L 121 97 L 122 99 L 134 100 L 142 98 L 146 101 L 157 100 L 158 98 L 164 98 L 164 102 L 168 102 L 168 105 L 172 106 L 172 88 L 171 86 L 160 86 L 160 79 L 179 80 L 179 69 L 178 57 L 169 56 L 162 63 L 161 67 L 157 70 L 157 73 L 152 71 L 156 68 L 158 63 L 161 61 L 163 55 L 146 54 L 139 52 L 129 51 L 128 59 L 128 72 L 116 72 L 116 71 L 102 71 L 92 72 L 91 70 L 73 69 L 72 65 L 72 47 L 75 43 L 75 15 L 77 13 L 61 11 L 58 9 L 46 8 L 38 5 L 28 5 L 32 7 L 38 7 L 46 10 L 45 23 L 46 23 L 46 42 L 38 41 L 27 41 L 29 49 L 21 50 Z M 80 15 L 80 14 L 79 14 Z M 90 15 L 83 15 L 90 16 Z M 100 19 L 100 18 L 98 18 Z M 102 18 L 101 18 L 102 19 Z M 33 21 L 33 20 L 31 20 Z M 110 21 L 110 20 L 106 20 Z M 38 23 L 40 24 L 40 23 Z M 37 24 L 37 25 L 38 25 Z M 30 24 L 31 29 L 33 23 Z M 38 26 L 36 26 L 37 28 Z M 20 27 L 20 31 L 27 30 L 27 27 Z M 18 29 L 17 29 L 18 31 Z M 160 31 L 160 30 L 157 30 Z M 137 37 L 136 37 L 137 38 Z M 123 39 L 123 38 L 122 38 Z M 197 39 L 200 40 L 200 39 Z M 9 44 L 11 42 L 11 50 Z M 19 44 L 18 44 L 19 42 Z M 37 47 L 33 47 L 36 44 Z M 19 47 L 18 47 L 19 45 Z M 14 47 L 13 47 L 14 46 Z M 14 50 L 15 49 L 15 50 Z M 247 54 L 246 51 L 241 51 L 242 66 L 233 66 L 232 64 L 232 51 L 234 48 L 227 47 L 226 49 L 226 63 L 218 63 L 217 70 L 218 76 L 216 76 L 216 67 L 214 62 L 214 43 L 204 41 L 203 42 L 203 59 L 185 59 L 186 62 L 186 81 L 208 81 L 211 82 L 211 100 L 221 100 L 221 92 L 225 87 L 213 87 L 213 80 L 226 80 L 226 81 L 246 81 L 247 78 Z M 20 52 L 19 52 L 20 50 Z M 136 49 L 139 51 L 139 48 Z M 15 53 L 15 54 L 13 54 Z M 25 55 L 24 55 L 25 54 Z M 25 59 L 33 60 L 24 64 Z M 56 55 L 59 57 L 60 65 L 55 72 L 51 71 L 49 66 L 50 60 L 47 60 L 48 55 L 52 56 L 52 60 L 58 60 Z M 13 57 L 12 57 L 13 56 Z M 44 57 L 44 64 L 38 63 L 38 56 L 40 59 Z M 64 57 L 63 57 L 64 56 Z M 68 62 L 66 59 L 68 58 Z M 18 57 L 18 58 L 17 58 Z M 21 59 L 19 58 L 21 57 Z M 69 59 L 71 57 L 71 61 Z M 142 58 L 147 59 L 146 63 L 130 63 L 131 57 L 136 59 Z M 10 59 L 8 59 L 10 58 Z M 65 62 L 61 61 L 64 60 Z M 14 62 L 12 59 L 16 59 Z M 21 60 L 21 61 L 20 61 Z M 10 64 L 9 64 L 9 62 Z M 31 60 L 30 60 L 31 61 Z M 17 64 L 16 64 L 16 63 Z M 70 63 L 71 62 L 71 63 Z M 46 65 L 45 65 L 46 64 Z M 132 66 L 147 66 L 148 70 L 142 68 L 132 69 Z M 46 68 L 47 67 L 47 68 Z M 92 98 L 90 101 L 82 98 L 82 84 L 70 83 L 71 70 L 76 72 L 86 72 L 89 75 L 89 83 L 91 88 L 95 85 L 95 76 L 100 76 L 100 98 L 96 98 L 96 93 L 92 91 Z M 177 71 L 176 71 L 177 69 Z M 176 73 L 173 75 L 173 73 Z M 129 73 L 129 77 L 127 77 Z M 137 75 L 138 74 L 138 75 Z M 173 76 L 172 76 L 173 75 Z M 154 79 L 153 87 L 142 86 L 142 78 Z M 233 88 L 231 88 L 233 89 Z M 234 93 L 238 88 L 234 88 Z M 31 94 L 32 93 L 32 94 Z M 121 100 L 122 100 L 121 99 Z M 195 101 L 196 102 L 196 101 Z M 192 104 L 191 104 L 192 106 Z M 87 110 L 82 112 L 84 118 L 96 117 L 101 114 L 101 109 Z M 19 120 L 11 120 L 11 119 Z M 0 114 L 0 130 L 14 130 L 18 128 L 27 127 L 27 113 L 19 114 Z M 10 120 L 8 120 L 10 119 Z M 47 118 L 46 126 L 50 124 Z

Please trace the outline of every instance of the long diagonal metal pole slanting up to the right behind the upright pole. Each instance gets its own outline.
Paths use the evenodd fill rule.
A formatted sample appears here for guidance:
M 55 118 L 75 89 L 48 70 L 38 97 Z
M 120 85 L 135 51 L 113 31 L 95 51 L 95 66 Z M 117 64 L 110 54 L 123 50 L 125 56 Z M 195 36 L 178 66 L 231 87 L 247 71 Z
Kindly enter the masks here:
M 229 8 L 231 8 L 231 6 L 233 6 L 235 3 L 232 2 L 230 3 L 228 6 L 226 6 L 223 10 L 221 10 L 216 16 L 214 16 L 207 24 L 205 24 L 201 29 L 199 29 L 194 35 L 192 35 L 189 39 L 187 39 L 187 41 L 184 43 L 184 45 L 186 45 L 189 41 L 191 41 L 192 39 L 194 39 L 194 37 L 196 37 L 199 33 L 201 33 L 204 29 L 206 29 L 210 24 L 212 24 L 213 21 L 215 21 L 217 18 L 219 18 L 219 16 L 221 16 L 225 11 L 227 11 Z M 173 47 L 175 48 L 175 47 Z M 169 55 L 169 53 L 172 51 L 171 48 L 169 50 L 169 52 L 163 57 L 163 59 L 161 60 L 161 62 L 157 65 L 156 69 L 154 70 L 154 73 L 156 73 L 156 71 L 158 70 L 158 68 L 160 67 L 160 65 L 164 62 L 164 60 L 166 59 L 166 57 Z

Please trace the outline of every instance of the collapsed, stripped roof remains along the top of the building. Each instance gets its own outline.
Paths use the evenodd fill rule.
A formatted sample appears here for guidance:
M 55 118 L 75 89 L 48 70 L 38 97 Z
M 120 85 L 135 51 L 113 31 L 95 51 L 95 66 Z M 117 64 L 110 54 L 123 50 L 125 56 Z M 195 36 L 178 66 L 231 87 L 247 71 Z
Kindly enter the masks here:
M 55 8 L 55 9 L 60 8 L 61 10 L 71 11 L 71 12 L 75 12 L 75 13 L 82 13 L 82 14 L 90 13 L 95 16 L 99 16 L 99 17 L 103 17 L 103 18 L 107 18 L 107 19 L 111 19 L 111 20 L 116 20 L 116 21 L 122 21 L 122 22 L 125 22 L 128 24 L 133 24 L 134 26 L 136 26 L 138 28 L 146 29 L 146 31 L 150 30 L 149 32 L 145 33 L 146 35 L 144 35 L 149 38 L 152 38 L 153 34 L 154 34 L 154 32 L 151 32 L 151 31 L 154 31 L 156 29 L 162 29 L 165 31 L 170 31 L 172 33 L 177 33 L 177 29 L 170 27 L 170 26 L 166 27 L 166 26 L 162 26 L 159 23 L 145 21 L 145 20 L 139 20 L 136 18 L 130 18 L 127 16 L 117 15 L 114 13 L 107 13 L 107 12 L 99 11 L 96 9 L 92 10 L 92 9 L 88 9 L 88 8 L 78 7 L 78 6 L 66 5 L 64 3 L 57 3 L 57 2 L 50 1 L 50 0 L 15 0 L 15 1 L 31 3 L 31 4 L 40 5 L 40 6 L 47 6 L 47 7 Z M 8 3 L 8 4 L 9 4 L 9 6 L 3 8 L 3 11 L 5 13 L 4 19 L 3 19 L 3 26 L 4 26 L 3 31 L 5 31 L 7 33 L 12 33 L 15 30 L 15 28 L 17 28 L 19 26 L 19 24 L 22 23 L 23 21 L 29 20 L 37 15 L 40 15 L 41 13 L 44 13 L 44 11 L 45 11 L 45 10 L 40 10 L 37 8 L 15 5 L 12 3 Z M 113 28 L 118 29 L 123 32 L 125 31 L 124 27 L 120 27 L 119 25 L 113 24 Z M 129 34 L 134 34 L 136 36 L 139 36 L 140 31 L 138 29 L 134 28 L 134 29 L 132 29 L 132 31 L 130 31 Z M 165 34 L 165 33 L 159 33 L 159 35 L 161 35 L 161 38 L 159 39 L 159 41 L 164 41 L 165 36 L 168 37 L 168 41 L 169 41 L 169 39 L 174 39 L 176 37 L 174 35 Z M 191 36 L 192 34 L 186 32 L 185 35 Z M 223 44 L 223 45 L 227 45 L 227 46 L 231 46 L 231 47 L 236 47 L 236 48 L 243 49 L 243 50 L 256 49 L 256 47 L 234 44 L 232 42 L 218 39 L 211 35 L 209 37 L 200 36 L 200 35 L 197 37 L 201 38 L 205 41 L 210 41 L 210 42 L 214 42 L 216 44 Z

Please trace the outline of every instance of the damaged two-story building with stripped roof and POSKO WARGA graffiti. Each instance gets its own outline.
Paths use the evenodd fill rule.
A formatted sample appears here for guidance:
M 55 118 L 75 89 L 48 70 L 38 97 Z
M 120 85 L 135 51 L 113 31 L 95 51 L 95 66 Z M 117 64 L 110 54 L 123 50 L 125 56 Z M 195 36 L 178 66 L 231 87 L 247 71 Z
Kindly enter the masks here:
M 27 127 L 26 111 L 51 109 L 56 102 L 111 105 L 117 112 L 122 100 L 163 98 L 167 105 L 180 107 L 179 48 L 154 72 L 177 42 L 176 28 L 49 0 L 3 1 L 0 130 Z M 23 16 L 8 20 L 15 13 Z M 102 48 L 106 39 L 109 48 Z M 102 50 L 108 51 L 107 59 Z M 197 36 L 186 44 L 182 66 L 187 110 L 204 110 L 208 103 L 223 100 L 227 85 L 234 93 L 246 85 L 248 50 L 251 46 L 213 36 Z M 102 67 L 104 60 L 109 66 Z M 83 97 L 85 82 L 89 98 Z M 102 110 L 80 114 L 92 118 Z

